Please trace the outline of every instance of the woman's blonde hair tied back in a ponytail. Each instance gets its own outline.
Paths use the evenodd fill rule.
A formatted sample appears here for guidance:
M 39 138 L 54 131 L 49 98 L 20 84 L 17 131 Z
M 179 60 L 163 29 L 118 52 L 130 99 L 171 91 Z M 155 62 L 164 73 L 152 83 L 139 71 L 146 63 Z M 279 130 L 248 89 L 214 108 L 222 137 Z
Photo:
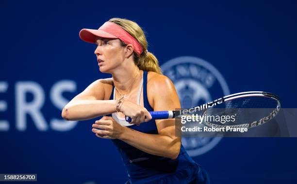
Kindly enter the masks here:
M 148 41 L 145 33 L 136 22 L 124 18 L 111 18 L 109 22 L 113 22 L 123 28 L 140 43 L 143 52 L 140 55 L 135 51 L 133 52 L 134 63 L 140 70 L 154 71 L 162 74 L 158 59 L 152 53 L 148 52 Z M 126 46 L 127 44 L 122 42 L 122 45 Z

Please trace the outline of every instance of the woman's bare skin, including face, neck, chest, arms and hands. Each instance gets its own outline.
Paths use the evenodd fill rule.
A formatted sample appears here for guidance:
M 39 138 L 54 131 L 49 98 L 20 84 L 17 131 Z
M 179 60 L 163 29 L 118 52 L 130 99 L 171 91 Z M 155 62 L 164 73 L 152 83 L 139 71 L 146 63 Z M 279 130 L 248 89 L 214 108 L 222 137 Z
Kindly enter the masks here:
M 112 78 L 99 79 L 89 85 L 65 106 L 62 117 L 66 120 L 87 120 L 115 113 L 116 100 L 109 100 L 114 84 L 119 93 L 125 96 L 118 115 L 130 116 L 132 124 L 149 121 L 151 115 L 144 108 L 142 95 L 140 105 L 136 104 L 143 71 L 134 64 L 133 45 L 121 46 L 120 40 L 106 38 L 97 38 L 96 44 L 94 53 L 99 63 L 99 71 L 111 73 Z M 180 108 L 175 87 L 166 76 L 148 72 L 147 87 L 148 101 L 154 111 Z M 115 94 L 115 99 L 118 99 L 120 95 L 118 92 Z M 95 121 L 92 131 L 99 138 L 120 139 L 148 154 L 175 159 L 181 146 L 181 138 L 175 136 L 175 120 L 155 121 L 159 134 L 147 134 L 121 126 L 109 116 Z

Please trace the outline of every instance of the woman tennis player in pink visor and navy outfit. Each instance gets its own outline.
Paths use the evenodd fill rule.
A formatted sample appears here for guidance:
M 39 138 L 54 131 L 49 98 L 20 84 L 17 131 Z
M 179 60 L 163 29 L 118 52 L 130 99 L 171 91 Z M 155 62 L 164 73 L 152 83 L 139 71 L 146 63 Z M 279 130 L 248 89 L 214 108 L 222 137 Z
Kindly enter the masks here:
M 112 139 L 128 172 L 126 184 L 209 184 L 207 172 L 191 159 L 175 136 L 175 120 L 152 120 L 148 111 L 175 110 L 180 102 L 172 82 L 148 52 L 143 30 L 133 21 L 112 18 L 80 38 L 96 43 L 99 79 L 63 109 L 67 120 L 95 121 L 98 138 Z M 132 122 L 125 120 L 125 115 Z

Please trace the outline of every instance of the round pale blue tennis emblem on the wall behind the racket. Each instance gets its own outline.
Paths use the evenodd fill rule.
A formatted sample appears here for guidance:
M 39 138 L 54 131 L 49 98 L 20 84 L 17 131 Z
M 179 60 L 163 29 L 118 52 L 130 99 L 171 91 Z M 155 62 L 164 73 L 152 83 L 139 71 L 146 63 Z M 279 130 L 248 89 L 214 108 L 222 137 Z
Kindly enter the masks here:
M 177 57 L 161 66 L 174 83 L 181 108 L 192 108 L 230 94 L 229 87 L 216 68 L 198 57 Z M 200 125 L 203 127 L 203 125 Z M 204 154 L 214 148 L 220 137 L 183 137 L 181 142 L 190 156 Z

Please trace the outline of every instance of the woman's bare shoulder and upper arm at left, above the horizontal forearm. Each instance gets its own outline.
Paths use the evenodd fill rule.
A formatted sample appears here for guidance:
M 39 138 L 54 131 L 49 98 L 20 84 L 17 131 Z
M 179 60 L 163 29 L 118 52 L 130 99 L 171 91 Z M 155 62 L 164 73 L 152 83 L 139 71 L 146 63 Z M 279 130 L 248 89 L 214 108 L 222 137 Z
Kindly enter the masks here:
M 112 78 L 98 79 L 88 85 L 74 99 L 109 99 L 113 87 Z M 109 96 L 108 96 L 109 95 Z

